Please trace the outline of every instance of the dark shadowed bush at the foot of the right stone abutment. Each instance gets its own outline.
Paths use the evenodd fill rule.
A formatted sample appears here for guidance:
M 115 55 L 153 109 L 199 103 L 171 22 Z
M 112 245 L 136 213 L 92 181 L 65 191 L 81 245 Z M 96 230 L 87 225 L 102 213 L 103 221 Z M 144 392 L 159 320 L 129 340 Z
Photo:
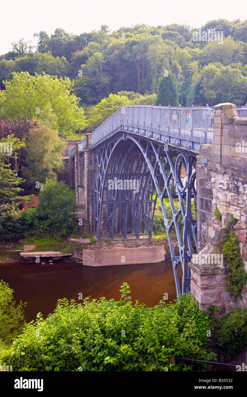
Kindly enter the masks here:
M 229 355 L 237 355 L 246 349 L 247 309 L 236 307 L 231 313 L 217 319 L 216 343 L 228 350 Z

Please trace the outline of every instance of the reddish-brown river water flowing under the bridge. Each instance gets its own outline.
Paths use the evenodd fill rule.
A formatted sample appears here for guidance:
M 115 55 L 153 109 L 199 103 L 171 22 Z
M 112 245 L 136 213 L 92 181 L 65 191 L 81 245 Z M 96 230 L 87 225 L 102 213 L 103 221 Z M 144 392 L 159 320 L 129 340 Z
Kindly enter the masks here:
M 179 278 L 182 279 L 182 268 Z M 25 320 L 35 320 L 41 312 L 44 317 L 56 308 L 61 298 L 75 299 L 79 294 L 98 299 L 120 299 L 119 289 L 123 282 L 130 285 L 132 301 L 138 300 L 152 307 L 159 303 L 164 293 L 168 301 L 176 298 L 176 287 L 170 259 L 153 264 L 88 267 L 77 263 L 55 262 L 41 264 L 0 264 L 0 279 L 14 290 L 14 299 L 27 302 Z

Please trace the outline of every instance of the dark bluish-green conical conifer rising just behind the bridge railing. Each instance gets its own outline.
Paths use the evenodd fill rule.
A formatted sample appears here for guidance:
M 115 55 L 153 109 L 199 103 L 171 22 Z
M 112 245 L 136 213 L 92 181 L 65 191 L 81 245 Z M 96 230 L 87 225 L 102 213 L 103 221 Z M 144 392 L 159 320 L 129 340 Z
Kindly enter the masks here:
M 159 104 L 178 106 L 178 85 L 171 73 L 159 79 L 156 105 Z

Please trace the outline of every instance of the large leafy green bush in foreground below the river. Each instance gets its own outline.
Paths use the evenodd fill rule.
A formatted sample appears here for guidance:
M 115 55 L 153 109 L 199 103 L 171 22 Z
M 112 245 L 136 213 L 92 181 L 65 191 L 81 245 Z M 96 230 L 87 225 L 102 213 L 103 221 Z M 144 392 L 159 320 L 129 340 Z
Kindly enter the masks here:
M 0 353 L 0 364 L 19 371 L 207 369 L 206 364 L 172 364 L 170 359 L 215 357 L 207 352 L 210 312 L 199 310 L 189 295 L 180 303 L 162 300 L 145 308 L 138 301 L 132 304 L 127 283 L 120 291 L 120 301 L 86 298 L 81 305 L 59 300 L 53 314 L 43 320 L 39 313 L 36 322 Z

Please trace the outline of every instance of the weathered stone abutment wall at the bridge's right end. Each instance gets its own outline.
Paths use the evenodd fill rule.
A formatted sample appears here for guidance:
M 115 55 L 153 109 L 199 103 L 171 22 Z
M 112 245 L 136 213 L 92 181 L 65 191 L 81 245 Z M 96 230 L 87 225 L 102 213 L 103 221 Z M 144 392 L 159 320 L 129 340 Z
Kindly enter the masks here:
M 239 238 L 245 271 L 247 272 L 247 118 L 239 118 L 236 105 L 226 103 L 214 106 L 214 143 L 201 145 L 197 156 L 197 238 L 201 254 L 216 252 L 214 233 L 220 222 L 214 217 L 216 206 L 222 214 L 222 227 L 230 214 Z M 204 166 L 205 159 L 207 166 Z M 215 251 L 216 250 L 216 251 Z M 242 301 L 234 301 L 225 291 L 226 264 L 190 263 L 191 292 L 201 307 L 210 303 L 228 312 L 234 305 L 247 307 L 247 287 Z M 205 273 L 205 270 L 207 272 Z

